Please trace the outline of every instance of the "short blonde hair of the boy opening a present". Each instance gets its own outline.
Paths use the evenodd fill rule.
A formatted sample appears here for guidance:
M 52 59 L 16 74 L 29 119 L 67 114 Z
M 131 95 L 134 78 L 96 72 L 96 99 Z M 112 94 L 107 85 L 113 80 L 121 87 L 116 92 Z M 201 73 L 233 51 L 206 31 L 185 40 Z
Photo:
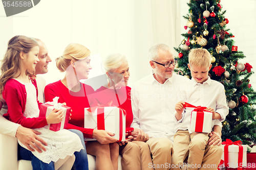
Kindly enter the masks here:
M 197 67 L 209 67 L 211 55 L 205 48 L 194 48 L 188 54 L 188 63 Z

